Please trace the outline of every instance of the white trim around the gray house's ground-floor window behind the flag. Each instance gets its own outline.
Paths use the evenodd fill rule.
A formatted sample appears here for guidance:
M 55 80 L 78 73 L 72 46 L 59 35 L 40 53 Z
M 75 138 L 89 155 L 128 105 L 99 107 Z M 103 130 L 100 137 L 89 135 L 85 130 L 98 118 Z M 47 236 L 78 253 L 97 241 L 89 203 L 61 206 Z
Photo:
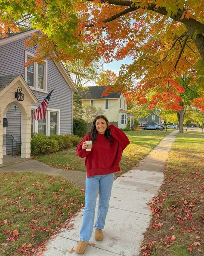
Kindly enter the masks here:
M 31 109 L 37 109 L 37 106 L 32 106 Z M 60 134 L 60 109 L 47 108 L 46 110 L 46 136 L 49 136 L 50 112 L 57 112 L 57 134 Z M 38 121 L 33 120 L 33 132 L 38 133 Z

